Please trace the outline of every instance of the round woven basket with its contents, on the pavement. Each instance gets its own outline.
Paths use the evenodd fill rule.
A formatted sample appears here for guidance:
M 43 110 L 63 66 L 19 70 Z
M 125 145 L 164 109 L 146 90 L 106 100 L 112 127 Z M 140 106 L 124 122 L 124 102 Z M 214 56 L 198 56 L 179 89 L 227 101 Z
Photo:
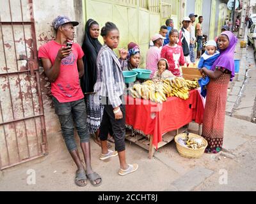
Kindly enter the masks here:
M 202 136 L 188 132 L 176 135 L 174 140 L 180 156 L 186 158 L 201 157 L 208 145 Z

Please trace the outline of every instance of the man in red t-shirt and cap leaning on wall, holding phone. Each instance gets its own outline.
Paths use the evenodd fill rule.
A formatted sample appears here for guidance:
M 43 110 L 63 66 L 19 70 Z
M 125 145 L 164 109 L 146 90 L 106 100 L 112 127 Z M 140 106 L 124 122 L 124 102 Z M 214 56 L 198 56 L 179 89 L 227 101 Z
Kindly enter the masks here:
M 86 110 L 84 94 L 79 84 L 79 78 L 84 75 L 83 50 L 76 44 L 67 43 L 74 40 L 74 26 L 79 23 L 68 17 L 58 16 L 52 22 L 56 31 L 56 39 L 39 48 L 38 57 L 42 60 L 45 75 L 51 82 L 52 101 L 55 113 L 58 115 L 61 132 L 68 151 L 77 165 L 77 186 L 86 186 L 87 178 L 93 186 L 102 183 L 101 177 L 93 172 L 90 159 L 90 136 L 86 128 Z M 74 124 L 80 138 L 86 171 L 81 163 L 74 140 Z

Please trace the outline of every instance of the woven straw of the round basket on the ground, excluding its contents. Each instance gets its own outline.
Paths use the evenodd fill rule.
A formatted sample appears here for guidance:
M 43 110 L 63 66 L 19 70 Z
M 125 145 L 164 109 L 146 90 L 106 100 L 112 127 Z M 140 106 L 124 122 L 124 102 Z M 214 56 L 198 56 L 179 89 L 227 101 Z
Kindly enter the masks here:
M 193 133 L 189 133 L 189 136 L 191 136 L 193 138 L 202 138 L 204 147 L 202 147 L 200 149 L 191 149 L 191 148 L 184 147 L 184 146 L 180 145 L 180 143 L 178 142 L 178 139 L 179 138 L 184 139 L 186 137 L 186 133 L 181 133 L 179 135 L 176 135 L 174 138 L 176 147 L 177 147 L 177 150 L 178 150 L 180 156 L 186 157 L 186 158 L 194 158 L 194 159 L 201 157 L 204 154 L 204 150 L 206 149 L 206 147 L 208 145 L 207 141 L 202 136 L 196 135 Z

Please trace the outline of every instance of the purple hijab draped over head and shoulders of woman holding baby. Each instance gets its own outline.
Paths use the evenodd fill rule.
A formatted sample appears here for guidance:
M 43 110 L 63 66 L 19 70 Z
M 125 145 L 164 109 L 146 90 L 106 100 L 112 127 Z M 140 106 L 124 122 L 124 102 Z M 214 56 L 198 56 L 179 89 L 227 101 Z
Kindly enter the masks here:
M 225 34 L 226 36 L 228 36 L 229 45 L 225 50 L 220 50 L 220 57 L 218 57 L 214 64 L 212 64 L 211 70 L 215 71 L 216 66 L 221 66 L 225 69 L 228 69 L 229 71 L 231 71 L 230 81 L 232 81 L 235 77 L 234 55 L 238 40 L 237 37 L 234 36 L 234 34 L 230 31 L 224 31 L 221 34 Z

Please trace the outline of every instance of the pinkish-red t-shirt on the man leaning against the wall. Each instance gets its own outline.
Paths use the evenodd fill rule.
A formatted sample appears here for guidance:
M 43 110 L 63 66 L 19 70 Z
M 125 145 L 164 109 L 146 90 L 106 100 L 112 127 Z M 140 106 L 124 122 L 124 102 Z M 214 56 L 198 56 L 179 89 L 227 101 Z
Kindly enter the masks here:
M 49 41 L 39 48 L 38 57 L 50 59 L 53 65 L 61 47 L 63 45 L 60 45 L 56 41 Z M 73 44 L 72 49 L 72 53 L 61 61 L 58 78 L 55 82 L 51 83 L 52 96 L 58 99 L 60 103 L 77 101 L 84 98 L 77 69 L 77 59 L 81 59 L 84 52 L 76 43 Z

